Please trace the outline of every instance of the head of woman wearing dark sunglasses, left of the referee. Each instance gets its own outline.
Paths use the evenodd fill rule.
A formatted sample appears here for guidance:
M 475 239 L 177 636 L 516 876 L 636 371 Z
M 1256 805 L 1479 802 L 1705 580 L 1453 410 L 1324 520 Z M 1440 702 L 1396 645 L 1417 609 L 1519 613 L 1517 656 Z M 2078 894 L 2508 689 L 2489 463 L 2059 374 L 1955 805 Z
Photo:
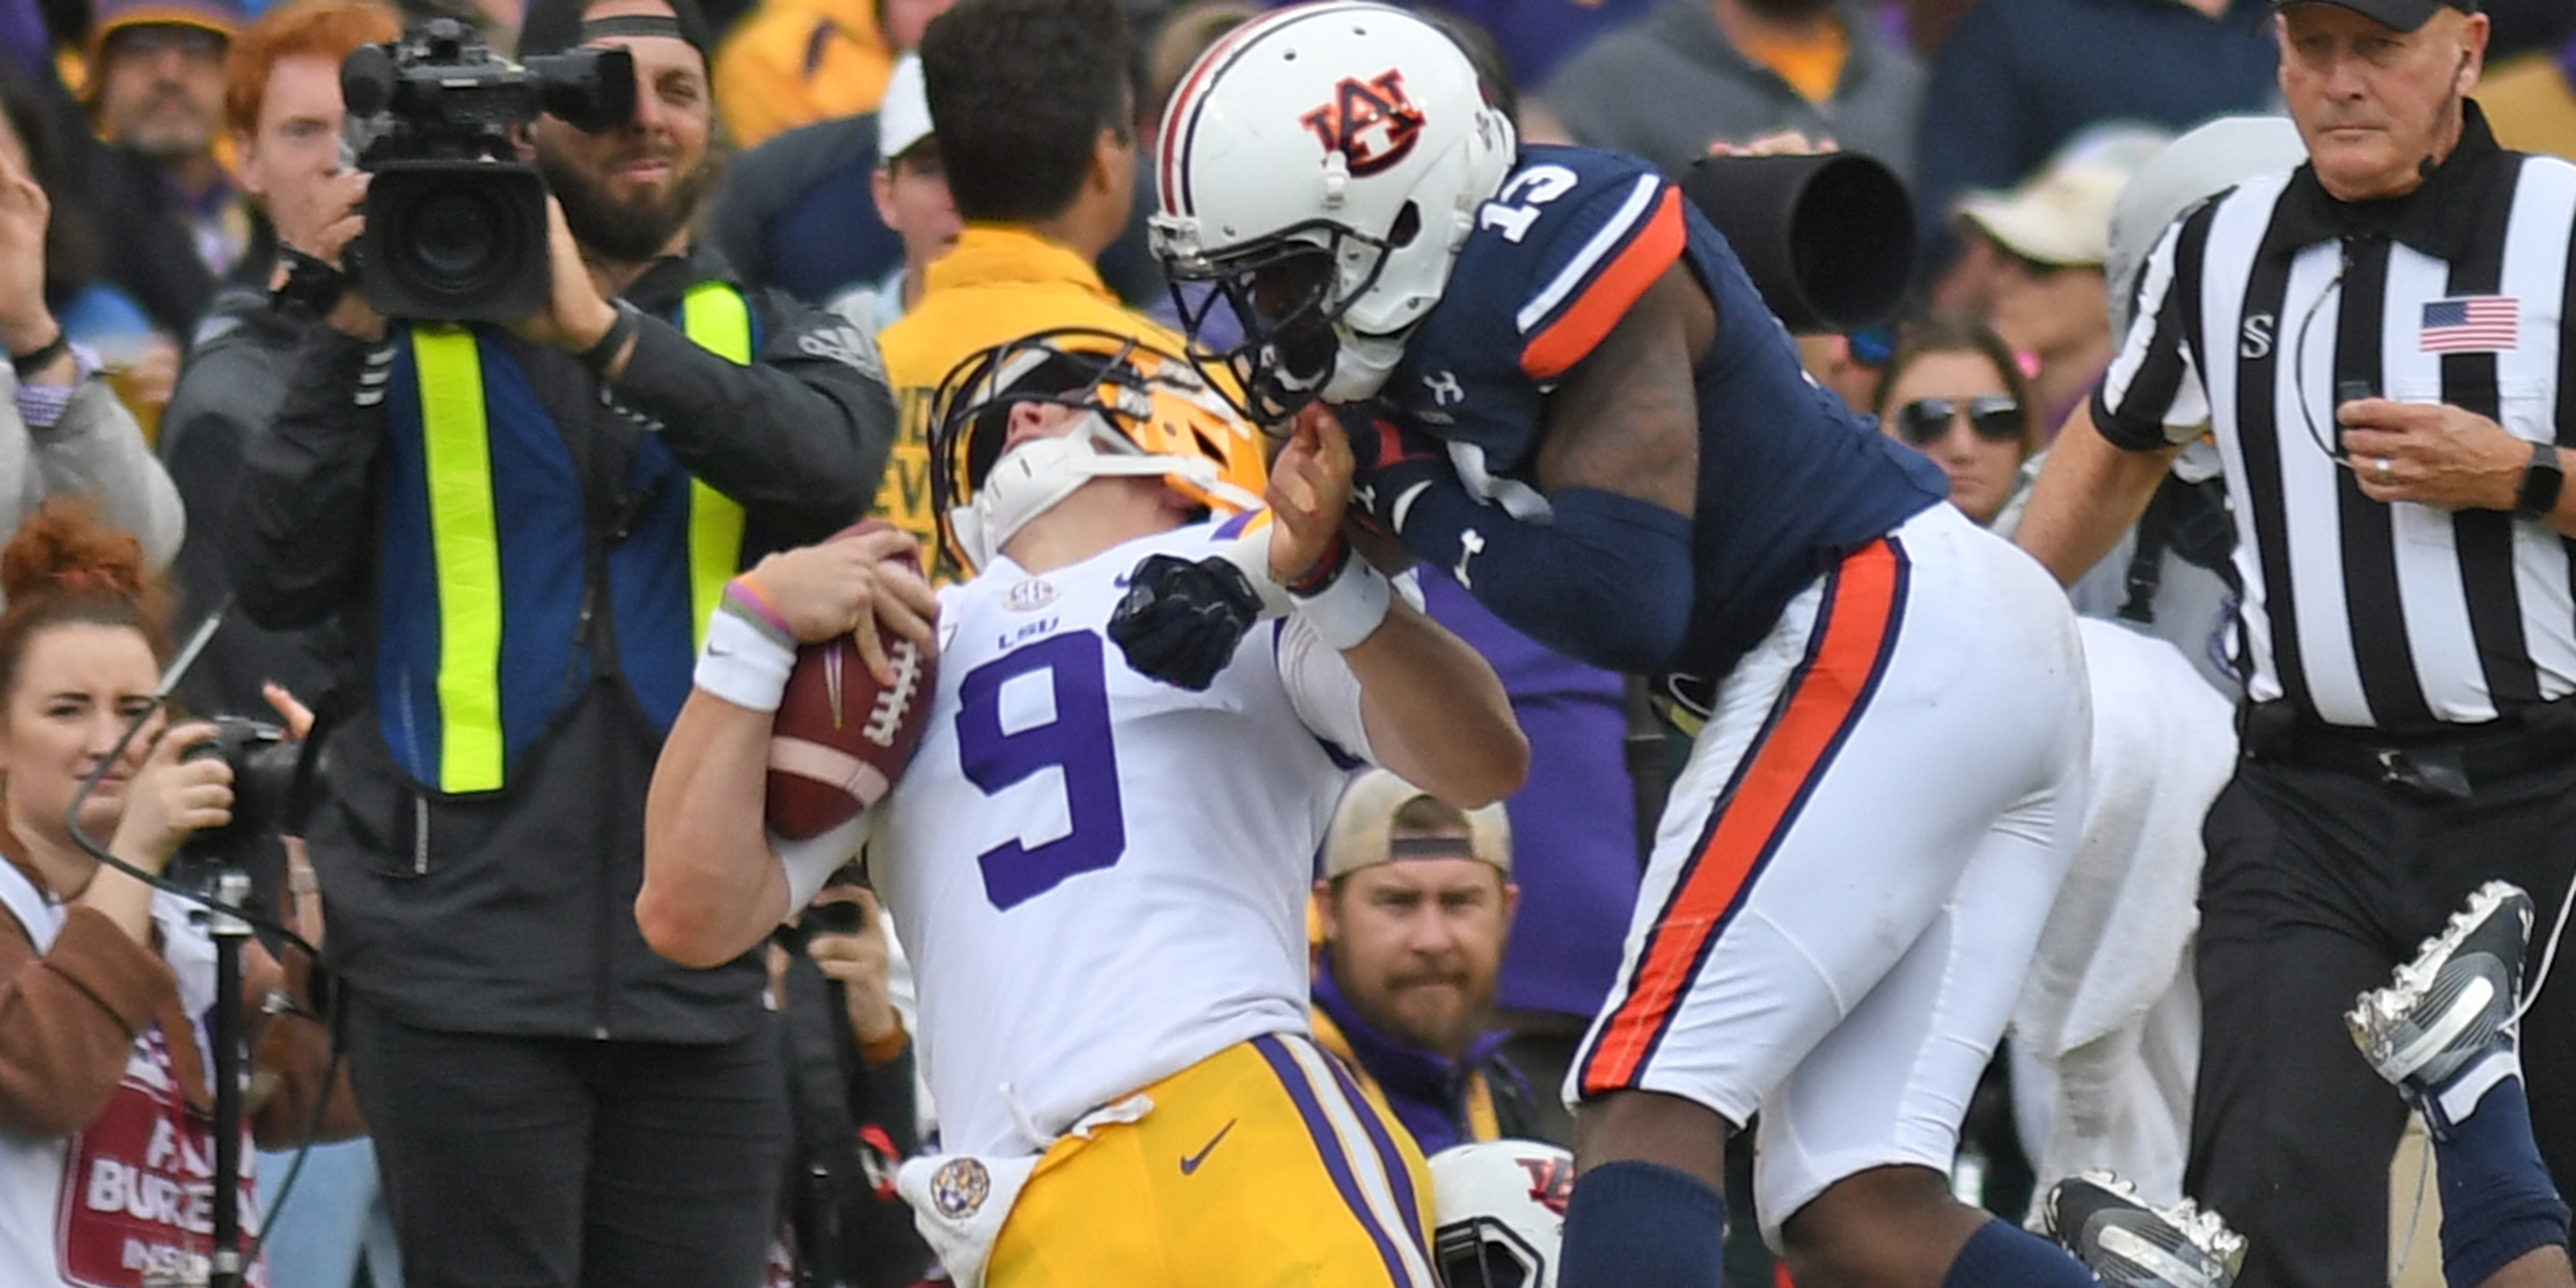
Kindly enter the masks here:
M 1978 526 L 1994 526 L 2022 489 L 2022 461 L 2040 451 L 2040 417 L 2012 348 L 1965 317 L 1906 325 L 1870 410 L 1880 433 L 1950 477 L 1950 505 Z

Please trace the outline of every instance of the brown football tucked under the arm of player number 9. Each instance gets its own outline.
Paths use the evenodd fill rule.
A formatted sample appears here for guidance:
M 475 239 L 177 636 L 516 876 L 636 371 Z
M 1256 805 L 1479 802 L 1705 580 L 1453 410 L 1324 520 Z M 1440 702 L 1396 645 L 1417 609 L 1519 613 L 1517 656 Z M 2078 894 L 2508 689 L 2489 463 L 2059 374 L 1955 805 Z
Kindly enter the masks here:
M 873 806 L 912 762 L 930 726 L 938 654 L 889 639 L 881 685 L 850 636 L 796 649 L 770 724 L 768 822 L 788 840 L 819 837 Z

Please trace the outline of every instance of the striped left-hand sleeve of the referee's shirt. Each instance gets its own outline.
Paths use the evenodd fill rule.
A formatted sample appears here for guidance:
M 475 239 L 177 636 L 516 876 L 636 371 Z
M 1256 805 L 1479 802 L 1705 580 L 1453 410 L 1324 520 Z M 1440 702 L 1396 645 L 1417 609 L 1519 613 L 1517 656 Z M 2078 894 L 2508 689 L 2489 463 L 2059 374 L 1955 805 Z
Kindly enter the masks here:
M 2208 214 L 2190 214 L 2164 229 L 2138 270 L 2130 312 L 2138 322 L 2092 397 L 2094 428 L 2115 448 L 2190 443 L 2210 422 L 2210 397 L 2195 361 L 2205 237 Z

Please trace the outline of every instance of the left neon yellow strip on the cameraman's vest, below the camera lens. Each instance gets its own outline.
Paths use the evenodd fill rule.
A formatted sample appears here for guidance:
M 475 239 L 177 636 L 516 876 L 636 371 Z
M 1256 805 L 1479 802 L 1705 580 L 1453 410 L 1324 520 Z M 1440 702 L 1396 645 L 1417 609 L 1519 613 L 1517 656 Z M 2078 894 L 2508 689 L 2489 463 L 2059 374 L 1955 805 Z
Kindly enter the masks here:
M 438 567 L 438 791 L 495 791 L 500 737 L 500 523 L 482 355 L 464 327 L 412 327 L 420 451 Z

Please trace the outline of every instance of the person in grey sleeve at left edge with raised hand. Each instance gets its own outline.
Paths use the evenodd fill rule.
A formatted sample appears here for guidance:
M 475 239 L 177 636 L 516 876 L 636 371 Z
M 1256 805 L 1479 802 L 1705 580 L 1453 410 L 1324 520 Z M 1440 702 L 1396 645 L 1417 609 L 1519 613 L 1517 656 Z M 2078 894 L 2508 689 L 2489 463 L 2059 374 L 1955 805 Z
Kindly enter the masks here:
M 98 379 L 98 358 L 75 348 L 54 314 L 54 283 L 77 270 L 90 232 L 77 227 L 77 204 L 57 211 L 36 178 L 52 167 L 41 149 L 59 134 L 15 67 L 0 70 L 0 345 L 13 368 L 0 402 L 0 523 L 15 531 L 52 495 L 98 497 L 106 520 L 131 531 L 144 562 L 162 569 L 185 528 L 178 489 Z

